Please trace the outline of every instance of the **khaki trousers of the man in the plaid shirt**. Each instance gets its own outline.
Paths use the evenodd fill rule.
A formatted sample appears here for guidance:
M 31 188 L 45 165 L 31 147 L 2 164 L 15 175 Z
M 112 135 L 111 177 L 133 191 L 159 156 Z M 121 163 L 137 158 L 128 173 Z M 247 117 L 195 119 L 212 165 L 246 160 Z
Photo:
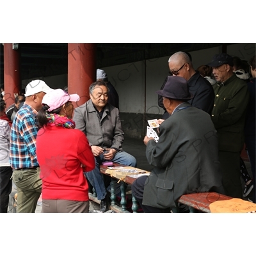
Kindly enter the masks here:
M 13 170 L 13 182 L 17 186 L 17 213 L 35 213 L 42 191 L 40 168 Z

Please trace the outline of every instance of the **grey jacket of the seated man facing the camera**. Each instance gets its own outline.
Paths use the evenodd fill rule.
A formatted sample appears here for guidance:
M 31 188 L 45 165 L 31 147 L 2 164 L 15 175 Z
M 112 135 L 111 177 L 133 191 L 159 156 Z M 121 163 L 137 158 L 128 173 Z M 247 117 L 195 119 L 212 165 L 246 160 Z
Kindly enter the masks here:
M 88 100 L 75 109 L 73 120 L 76 122 L 76 129 L 83 131 L 86 135 L 90 146 L 122 150 L 124 132 L 117 108 L 106 104 L 100 120 L 92 100 Z

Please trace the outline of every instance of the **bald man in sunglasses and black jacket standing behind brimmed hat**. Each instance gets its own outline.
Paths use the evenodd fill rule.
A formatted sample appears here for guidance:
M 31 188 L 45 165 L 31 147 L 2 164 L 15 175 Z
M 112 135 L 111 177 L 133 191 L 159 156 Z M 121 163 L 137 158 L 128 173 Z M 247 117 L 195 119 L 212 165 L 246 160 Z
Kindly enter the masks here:
M 193 68 L 188 54 L 186 52 L 175 52 L 170 56 L 168 63 L 173 76 L 180 76 L 188 81 L 189 92 L 195 95 L 188 102 L 193 107 L 202 109 L 211 115 L 214 104 L 214 90 L 211 84 Z M 164 86 L 161 90 L 163 88 Z

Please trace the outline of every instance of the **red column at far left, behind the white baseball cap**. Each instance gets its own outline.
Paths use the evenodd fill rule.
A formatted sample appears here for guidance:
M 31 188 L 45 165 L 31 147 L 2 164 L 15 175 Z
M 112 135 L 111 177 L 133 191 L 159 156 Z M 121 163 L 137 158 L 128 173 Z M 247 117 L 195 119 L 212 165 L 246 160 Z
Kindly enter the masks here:
M 4 43 L 4 100 L 6 108 L 14 103 L 14 93 L 20 92 L 20 51 Z

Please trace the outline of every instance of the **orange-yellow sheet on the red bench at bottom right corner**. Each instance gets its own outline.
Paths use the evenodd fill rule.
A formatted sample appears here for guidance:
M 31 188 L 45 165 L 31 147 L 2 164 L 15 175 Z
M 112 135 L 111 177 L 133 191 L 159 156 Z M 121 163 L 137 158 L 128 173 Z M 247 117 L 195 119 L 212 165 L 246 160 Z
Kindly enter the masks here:
M 216 201 L 211 203 L 209 208 L 212 213 L 256 213 L 256 204 L 239 198 Z

